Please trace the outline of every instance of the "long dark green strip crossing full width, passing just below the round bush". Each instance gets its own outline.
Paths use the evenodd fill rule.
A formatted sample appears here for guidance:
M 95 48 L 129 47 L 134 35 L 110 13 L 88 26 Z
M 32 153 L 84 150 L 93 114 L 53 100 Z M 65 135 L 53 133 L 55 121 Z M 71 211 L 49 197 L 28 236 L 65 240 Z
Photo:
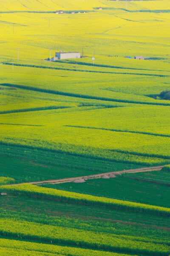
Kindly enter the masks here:
M 8 87 L 16 87 L 23 90 L 33 90 L 41 93 L 51 93 L 51 94 L 57 94 L 62 96 L 69 96 L 69 97 L 75 97 L 75 98 L 81 98 L 81 99 L 96 99 L 96 100 L 102 100 L 102 101 L 111 101 L 111 102 L 123 102 L 123 103 L 134 103 L 134 104 L 142 104 L 142 105 L 161 105 L 161 106 L 170 106 L 170 103 L 158 103 L 158 102 L 141 102 L 141 101 L 135 101 L 135 100 L 124 100 L 124 99 L 113 99 L 113 98 L 105 98 L 105 97 L 97 97 L 92 95 L 83 95 L 83 94 L 77 94 L 77 93 L 66 93 L 56 90 L 49 90 L 49 89 L 42 89 L 42 88 L 36 88 L 32 86 L 24 86 L 20 84 L 9 84 L 9 83 L 2 83 L 0 85 L 8 86 Z

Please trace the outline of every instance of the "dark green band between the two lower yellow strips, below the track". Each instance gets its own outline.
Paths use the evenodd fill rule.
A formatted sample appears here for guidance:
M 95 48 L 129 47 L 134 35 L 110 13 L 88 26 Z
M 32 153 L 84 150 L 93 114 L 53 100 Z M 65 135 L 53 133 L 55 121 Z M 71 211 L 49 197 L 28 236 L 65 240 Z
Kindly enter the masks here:
M 111 223 L 118 222 L 125 224 L 134 224 L 136 227 L 139 225 L 142 225 L 144 228 L 146 227 L 162 227 L 166 230 L 166 228 L 170 228 L 170 222 L 169 218 L 162 218 L 162 216 L 156 216 L 156 215 L 148 215 L 143 212 L 123 212 L 116 209 L 109 209 L 106 211 L 105 208 L 101 207 L 94 207 L 94 206 L 83 206 L 79 204 L 68 204 L 64 202 L 56 202 L 55 201 L 47 201 L 42 200 L 38 198 L 30 198 L 27 196 L 20 196 L 20 195 L 7 195 L 6 197 L 1 198 L 1 216 L 5 217 L 6 210 L 11 210 L 11 213 L 8 213 L 10 218 L 13 218 L 15 216 L 20 215 L 27 216 L 27 218 L 24 218 L 25 220 L 28 220 L 28 216 L 31 215 L 31 212 L 33 215 L 37 215 L 37 217 L 31 216 L 31 220 L 34 220 L 37 218 L 37 220 L 41 221 L 41 223 L 53 223 L 54 218 L 56 219 L 58 216 L 69 217 L 69 218 L 78 218 L 80 220 L 85 221 L 97 221 L 98 226 L 99 223 L 108 221 Z M 5 212 L 2 214 L 3 209 L 5 209 Z M 25 213 L 24 213 L 25 212 Z M 29 214 L 27 214 L 29 212 Z M 53 218 L 52 221 L 47 222 L 47 217 L 50 218 L 50 216 Z M 18 217 L 17 217 L 18 218 Z M 23 218 L 21 218 L 23 219 Z M 128 229 L 128 228 L 127 228 Z M 160 228 L 161 229 L 161 228 Z M 148 230 L 148 229 L 147 229 Z

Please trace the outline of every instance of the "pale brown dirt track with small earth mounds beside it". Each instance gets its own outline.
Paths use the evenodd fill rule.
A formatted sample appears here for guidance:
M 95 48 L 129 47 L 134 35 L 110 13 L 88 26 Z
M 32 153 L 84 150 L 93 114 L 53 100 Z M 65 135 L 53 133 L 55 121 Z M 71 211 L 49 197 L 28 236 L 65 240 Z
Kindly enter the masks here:
M 118 171 L 118 172 L 104 172 L 104 173 L 95 174 L 95 175 L 71 177 L 71 178 L 64 178 L 64 179 L 57 179 L 57 180 L 42 180 L 42 181 L 33 181 L 33 182 L 23 182 L 23 183 L 17 183 L 17 184 L 9 184 L 7 186 L 22 185 L 25 183 L 32 184 L 32 185 L 68 183 L 68 182 L 73 182 L 73 181 L 79 180 L 79 179 L 84 179 L 84 180 L 99 179 L 99 178 L 102 178 L 102 176 L 104 176 L 104 175 L 110 175 L 110 174 L 121 175 L 123 173 L 160 171 L 163 167 L 164 166 L 144 167 L 144 168 L 139 168 L 139 169 L 129 169 L 129 170 L 123 170 L 123 171 Z

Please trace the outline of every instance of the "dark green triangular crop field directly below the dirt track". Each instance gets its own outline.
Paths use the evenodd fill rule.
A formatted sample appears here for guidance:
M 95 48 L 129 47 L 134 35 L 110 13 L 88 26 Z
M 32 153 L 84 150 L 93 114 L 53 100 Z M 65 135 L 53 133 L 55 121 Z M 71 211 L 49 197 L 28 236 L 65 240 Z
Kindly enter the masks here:
M 85 183 L 44 184 L 44 187 L 62 189 L 107 198 L 123 199 L 143 204 L 170 207 L 169 173 L 142 172 L 108 179 L 87 180 Z M 157 180 L 157 179 L 159 180 Z M 151 182 L 147 182 L 153 181 Z M 163 180 L 166 183 L 163 183 Z M 167 186 L 169 185 L 169 186 Z

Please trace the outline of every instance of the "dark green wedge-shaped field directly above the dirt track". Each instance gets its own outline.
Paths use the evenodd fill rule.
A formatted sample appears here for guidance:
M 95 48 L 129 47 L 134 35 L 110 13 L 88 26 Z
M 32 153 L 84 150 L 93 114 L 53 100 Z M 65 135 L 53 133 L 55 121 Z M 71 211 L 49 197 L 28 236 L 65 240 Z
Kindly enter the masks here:
M 15 183 L 78 177 L 142 167 L 28 148 L 2 146 L 0 153 L 8 155 L 8 157 L 0 156 L 0 174 L 14 178 Z M 11 183 L 14 182 L 11 181 Z

